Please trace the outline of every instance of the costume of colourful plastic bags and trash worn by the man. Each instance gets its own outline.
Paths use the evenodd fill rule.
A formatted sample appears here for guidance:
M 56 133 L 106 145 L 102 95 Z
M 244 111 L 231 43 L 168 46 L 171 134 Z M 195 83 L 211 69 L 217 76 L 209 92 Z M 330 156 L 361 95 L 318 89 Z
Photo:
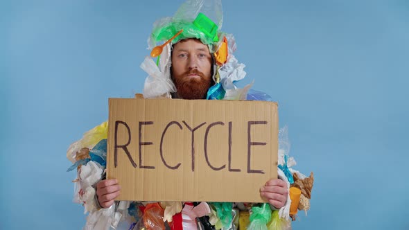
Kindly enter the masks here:
M 172 45 L 182 39 L 200 39 L 209 47 L 214 60 L 213 80 L 207 92 L 209 100 L 269 100 L 260 91 L 250 89 L 251 84 L 238 89 L 234 82 L 245 78 L 244 64 L 238 62 L 234 36 L 223 33 L 221 0 L 188 0 L 173 17 L 155 22 L 148 38 L 148 49 L 158 42 L 171 41 L 164 46 L 155 62 L 146 57 L 141 69 L 148 73 L 143 88 L 144 98 L 172 98 L 177 93 L 171 80 Z M 176 35 L 176 36 L 175 36 Z M 174 38 L 173 38 L 174 37 Z M 173 39 L 172 39 L 173 38 Z M 156 56 L 154 52 L 153 56 Z M 74 202 L 85 206 L 87 223 L 84 229 L 290 229 L 297 209 L 310 207 L 313 174 L 302 175 L 292 167 L 290 144 L 286 127 L 279 130 L 278 175 L 289 188 L 286 204 L 275 210 L 269 204 L 231 202 L 115 202 L 102 209 L 96 200 L 96 184 L 105 176 L 107 154 L 107 122 L 94 127 L 81 140 L 72 143 L 67 158 L 77 169 Z

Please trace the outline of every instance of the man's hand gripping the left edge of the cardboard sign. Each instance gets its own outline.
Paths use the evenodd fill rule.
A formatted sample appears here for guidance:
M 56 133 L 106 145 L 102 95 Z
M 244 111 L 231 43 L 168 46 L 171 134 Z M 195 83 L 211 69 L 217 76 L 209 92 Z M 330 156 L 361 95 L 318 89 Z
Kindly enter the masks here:
M 121 186 L 116 179 L 104 179 L 96 184 L 96 197 L 104 209 L 114 204 L 114 199 L 119 196 Z

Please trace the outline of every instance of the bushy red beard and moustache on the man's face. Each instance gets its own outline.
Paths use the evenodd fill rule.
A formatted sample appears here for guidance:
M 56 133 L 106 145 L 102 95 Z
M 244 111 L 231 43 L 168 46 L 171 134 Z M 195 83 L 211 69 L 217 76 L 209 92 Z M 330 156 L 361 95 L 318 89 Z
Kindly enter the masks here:
M 200 78 L 191 78 L 189 75 L 195 74 Z M 204 99 L 207 96 L 211 80 L 206 80 L 204 74 L 197 69 L 183 73 L 182 76 L 173 78 L 177 95 L 183 99 Z

